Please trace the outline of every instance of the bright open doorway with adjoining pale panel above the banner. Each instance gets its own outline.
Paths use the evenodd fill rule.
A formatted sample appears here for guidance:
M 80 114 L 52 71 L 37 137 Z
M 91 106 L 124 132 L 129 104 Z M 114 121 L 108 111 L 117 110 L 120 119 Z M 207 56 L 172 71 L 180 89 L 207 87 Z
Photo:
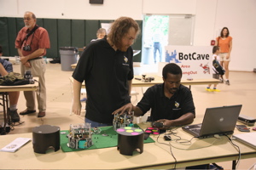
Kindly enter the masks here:
M 144 15 L 142 64 L 166 62 L 167 45 L 193 45 L 194 23 L 190 14 Z

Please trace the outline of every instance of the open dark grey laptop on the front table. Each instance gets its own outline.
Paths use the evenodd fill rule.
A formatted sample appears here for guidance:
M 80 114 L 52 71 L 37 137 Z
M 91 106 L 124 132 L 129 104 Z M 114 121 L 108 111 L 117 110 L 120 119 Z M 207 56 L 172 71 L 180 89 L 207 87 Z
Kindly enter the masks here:
M 214 134 L 228 135 L 234 133 L 241 105 L 228 105 L 207 108 L 201 124 L 184 126 L 183 131 L 196 138 L 211 138 Z

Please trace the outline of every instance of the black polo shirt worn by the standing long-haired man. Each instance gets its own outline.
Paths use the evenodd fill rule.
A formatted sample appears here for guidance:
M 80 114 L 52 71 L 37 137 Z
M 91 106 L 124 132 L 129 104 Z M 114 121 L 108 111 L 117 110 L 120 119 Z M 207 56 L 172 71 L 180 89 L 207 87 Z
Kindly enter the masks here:
M 133 50 L 115 51 L 106 37 L 91 42 L 73 71 L 73 78 L 86 84 L 85 117 L 94 122 L 113 122 L 112 112 L 130 103 L 128 80 L 133 78 Z

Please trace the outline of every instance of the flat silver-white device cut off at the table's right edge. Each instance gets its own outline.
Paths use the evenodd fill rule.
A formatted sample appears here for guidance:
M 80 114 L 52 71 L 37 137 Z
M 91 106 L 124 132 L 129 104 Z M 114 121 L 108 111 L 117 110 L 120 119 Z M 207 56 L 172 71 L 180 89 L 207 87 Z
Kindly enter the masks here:
M 248 146 L 253 147 L 256 150 L 256 133 L 241 133 L 233 135 L 237 141 L 242 144 L 247 144 Z

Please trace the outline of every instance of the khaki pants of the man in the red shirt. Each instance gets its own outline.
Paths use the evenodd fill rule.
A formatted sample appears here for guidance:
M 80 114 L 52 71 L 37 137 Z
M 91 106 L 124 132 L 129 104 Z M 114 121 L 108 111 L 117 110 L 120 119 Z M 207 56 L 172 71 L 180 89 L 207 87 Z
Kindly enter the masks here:
M 26 99 L 26 108 L 28 111 L 36 110 L 35 103 L 35 94 L 37 95 L 38 100 L 38 110 L 46 111 L 46 87 L 45 87 L 45 62 L 44 59 L 32 59 L 29 61 L 31 68 L 27 68 L 24 65 L 20 66 L 21 74 L 24 75 L 26 70 L 30 70 L 32 72 L 33 77 L 38 77 L 39 88 L 36 92 L 28 91 L 24 92 L 24 96 Z

